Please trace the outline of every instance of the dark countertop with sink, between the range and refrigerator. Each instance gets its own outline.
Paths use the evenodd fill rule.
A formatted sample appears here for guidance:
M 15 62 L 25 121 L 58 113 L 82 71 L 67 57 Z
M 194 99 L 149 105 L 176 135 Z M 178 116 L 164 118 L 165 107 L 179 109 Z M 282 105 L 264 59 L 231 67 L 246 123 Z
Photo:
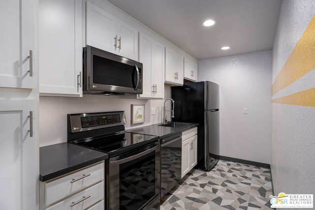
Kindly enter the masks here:
M 182 126 L 182 127 L 166 127 L 166 126 L 160 126 L 161 124 L 163 123 L 147 125 L 147 126 L 138 127 L 138 128 L 131 128 L 131 129 L 127 129 L 126 132 L 155 135 L 155 136 L 159 136 L 160 138 L 165 138 L 167 136 L 170 136 L 179 132 L 183 132 L 185 130 L 188 130 L 190 128 L 193 128 L 199 125 L 197 123 L 187 123 L 187 125 Z

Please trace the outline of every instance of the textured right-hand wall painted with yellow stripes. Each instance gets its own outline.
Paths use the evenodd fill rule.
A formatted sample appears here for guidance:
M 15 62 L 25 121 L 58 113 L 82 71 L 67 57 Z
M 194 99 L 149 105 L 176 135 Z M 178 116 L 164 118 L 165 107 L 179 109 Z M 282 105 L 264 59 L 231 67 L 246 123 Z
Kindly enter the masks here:
M 276 195 L 315 194 L 315 1 L 283 0 L 273 48 Z

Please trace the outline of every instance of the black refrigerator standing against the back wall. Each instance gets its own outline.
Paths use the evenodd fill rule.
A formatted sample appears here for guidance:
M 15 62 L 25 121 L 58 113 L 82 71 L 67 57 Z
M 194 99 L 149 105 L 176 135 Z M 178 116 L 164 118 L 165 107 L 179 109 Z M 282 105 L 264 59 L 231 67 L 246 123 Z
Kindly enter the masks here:
M 195 168 L 210 171 L 220 157 L 219 85 L 205 81 L 171 89 L 173 121 L 199 123 Z

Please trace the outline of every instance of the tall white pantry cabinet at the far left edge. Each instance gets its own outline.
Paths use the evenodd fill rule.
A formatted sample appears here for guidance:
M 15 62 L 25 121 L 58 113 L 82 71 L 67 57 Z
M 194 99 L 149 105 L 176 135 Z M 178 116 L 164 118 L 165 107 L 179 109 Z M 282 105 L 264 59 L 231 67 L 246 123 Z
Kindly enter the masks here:
M 0 209 L 35 210 L 38 164 L 36 0 L 0 7 Z

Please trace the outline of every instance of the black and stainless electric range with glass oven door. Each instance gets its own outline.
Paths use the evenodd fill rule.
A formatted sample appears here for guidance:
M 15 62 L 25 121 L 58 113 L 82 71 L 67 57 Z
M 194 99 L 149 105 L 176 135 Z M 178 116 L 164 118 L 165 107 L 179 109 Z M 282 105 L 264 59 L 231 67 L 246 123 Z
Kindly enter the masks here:
M 67 118 L 68 143 L 108 153 L 107 210 L 159 209 L 159 137 L 125 132 L 123 111 Z

